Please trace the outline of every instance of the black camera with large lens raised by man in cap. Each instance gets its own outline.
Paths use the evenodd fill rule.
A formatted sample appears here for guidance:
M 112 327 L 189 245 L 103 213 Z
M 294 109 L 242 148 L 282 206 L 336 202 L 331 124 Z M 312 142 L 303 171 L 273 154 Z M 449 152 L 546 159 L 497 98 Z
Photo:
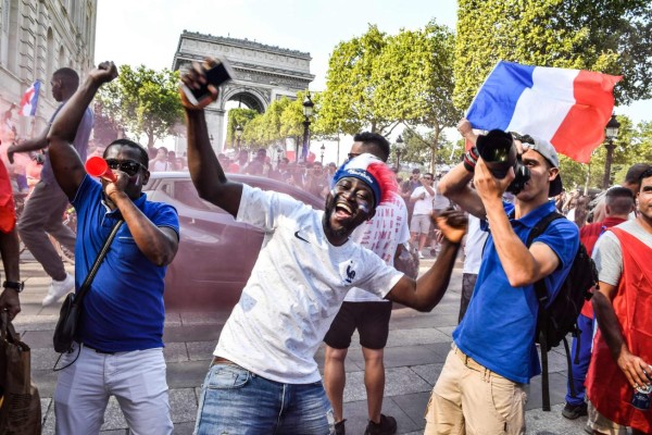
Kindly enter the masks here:
M 512 135 L 501 129 L 492 129 L 478 136 L 476 148 L 494 177 L 502 179 L 507 175 L 510 167 L 514 169 L 516 177 L 507 186 L 507 191 L 518 195 L 529 181 L 530 173 L 521 160 Z

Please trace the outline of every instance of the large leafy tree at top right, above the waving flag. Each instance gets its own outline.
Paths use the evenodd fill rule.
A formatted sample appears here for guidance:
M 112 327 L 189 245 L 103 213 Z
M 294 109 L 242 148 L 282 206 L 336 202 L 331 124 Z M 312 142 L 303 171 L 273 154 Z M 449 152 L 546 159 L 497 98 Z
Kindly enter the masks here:
M 499 60 L 623 75 L 616 101 L 652 97 L 649 0 L 460 0 L 454 102 L 466 109 Z

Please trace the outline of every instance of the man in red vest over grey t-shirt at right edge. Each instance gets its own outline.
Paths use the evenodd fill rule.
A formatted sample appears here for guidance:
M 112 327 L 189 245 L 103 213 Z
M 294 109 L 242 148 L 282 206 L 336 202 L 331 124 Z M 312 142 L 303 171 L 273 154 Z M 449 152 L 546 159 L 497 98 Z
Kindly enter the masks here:
M 641 174 L 638 216 L 606 231 L 593 252 L 600 331 L 587 377 L 588 425 L 595 434 L 652 432 L 652 411 L 635 391 L 652 385 L 652 169 Z M 648 394 L 648 405 L 649 405 Z M 637 405 L 638 407 L 635 407 Z M 593 410 L 594 408 L 594 410 Z

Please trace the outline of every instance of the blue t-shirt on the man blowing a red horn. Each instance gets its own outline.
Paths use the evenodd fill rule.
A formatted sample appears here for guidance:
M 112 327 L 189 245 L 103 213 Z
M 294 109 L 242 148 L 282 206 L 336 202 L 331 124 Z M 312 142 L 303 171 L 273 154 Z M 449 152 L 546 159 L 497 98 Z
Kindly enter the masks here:
M 102 186 L 90 176 L 84 178 L 72 203 L 77 210 L 75 287 L 79 288 L 120 211 L 106 207 Z M 145 194 L 134 203 L 154 225 L 178 234 L 178 215 L 172 206 L 148 201 Z M 85 296 L 80 341 L 110 352 L 163 347 L 166 269 L 142 254 L 124 223 Z

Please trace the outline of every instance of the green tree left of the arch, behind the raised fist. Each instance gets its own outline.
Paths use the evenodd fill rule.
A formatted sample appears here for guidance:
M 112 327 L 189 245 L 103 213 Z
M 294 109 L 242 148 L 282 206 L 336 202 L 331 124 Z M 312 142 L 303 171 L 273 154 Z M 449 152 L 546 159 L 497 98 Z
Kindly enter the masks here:
M 151 149 L 181 120 L 178 83 L 178 72 L 122 65 L 117 79 L 102 86 L 98 100 L 103 113 L 127 132 L 146 135 Z

